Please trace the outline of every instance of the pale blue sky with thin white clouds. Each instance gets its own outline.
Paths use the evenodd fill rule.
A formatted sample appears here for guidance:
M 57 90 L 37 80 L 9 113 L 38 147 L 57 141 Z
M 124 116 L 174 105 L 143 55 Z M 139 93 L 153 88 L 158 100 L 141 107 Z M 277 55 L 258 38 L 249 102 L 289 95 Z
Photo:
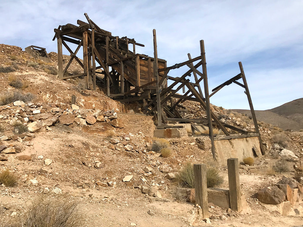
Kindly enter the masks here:
M 45 47 L 57 52 L 54 28 L 85 21 L 84 13 L 114 36 L 135 38 L 167 65 L 200 54 L 205 42 L 209 90 L 244 67 L 256 110 L 271 109 L 303 97 L 303 1 L 19 1 L 0 0 L 0 42 Z M 64 51 L 67 54 L 67 51 Z M 180 76 L 187 68 L 175 69 Z M 231 84 L 211 97 L 227 109 L 249 108 L 243 88 Z

